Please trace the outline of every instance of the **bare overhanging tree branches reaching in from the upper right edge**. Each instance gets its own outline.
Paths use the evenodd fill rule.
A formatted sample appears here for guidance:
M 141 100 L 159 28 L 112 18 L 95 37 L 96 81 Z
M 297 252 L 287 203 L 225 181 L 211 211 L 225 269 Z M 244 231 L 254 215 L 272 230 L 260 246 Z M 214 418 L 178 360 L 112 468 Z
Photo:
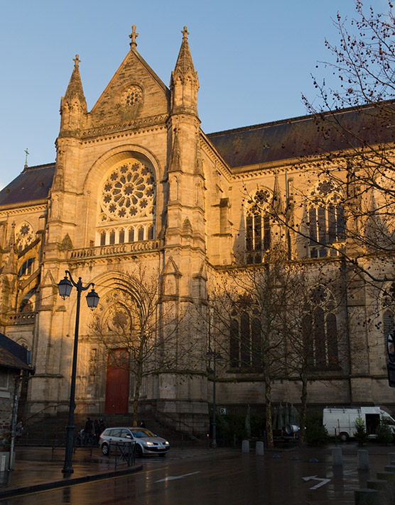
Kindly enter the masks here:
M 342 255 L 372 282 L 394 279 L 395 17 L 391 1 L 388 7 L 376 13 L 357 0 L 355 18 L 337 14 L 339 43 L 325 42 L 332 59 L 318 65 L 331 79 L 315 77 L 318 96 L 303 96 L 311 121 L 303 127 L 291 121 L 293 147 L 286 147 L 303 184 L 288 187 L 286 213 L 275 205 L 272 212 L 296 236 Z M 328 84 L 333 76 L 338 86 Z M 367 268 L 368 255 L 384 271 Z

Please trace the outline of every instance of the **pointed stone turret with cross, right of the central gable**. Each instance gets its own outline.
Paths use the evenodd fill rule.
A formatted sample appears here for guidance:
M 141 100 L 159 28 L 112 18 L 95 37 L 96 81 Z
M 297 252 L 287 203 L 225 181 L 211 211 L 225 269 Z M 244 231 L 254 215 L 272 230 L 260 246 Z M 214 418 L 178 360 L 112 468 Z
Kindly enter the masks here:
M 181 31 L 181 43 L 178 59 L 173 72 L 171 72 L 171 100 L 172 113 L 194 113 L 198 115 L 198 72 L 193 66 L 192 56 L 188 44 L 188 29 L 184 26 Z

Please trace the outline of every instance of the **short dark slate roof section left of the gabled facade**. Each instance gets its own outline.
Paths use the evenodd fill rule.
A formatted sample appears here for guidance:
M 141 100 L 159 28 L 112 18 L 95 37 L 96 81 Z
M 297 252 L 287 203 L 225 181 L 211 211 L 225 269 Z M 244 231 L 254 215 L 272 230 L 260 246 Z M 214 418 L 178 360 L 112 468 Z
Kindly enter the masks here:
M 45 200 L 55 174 L 55 163 L 27 167 L 0 192 L 0 205 Z

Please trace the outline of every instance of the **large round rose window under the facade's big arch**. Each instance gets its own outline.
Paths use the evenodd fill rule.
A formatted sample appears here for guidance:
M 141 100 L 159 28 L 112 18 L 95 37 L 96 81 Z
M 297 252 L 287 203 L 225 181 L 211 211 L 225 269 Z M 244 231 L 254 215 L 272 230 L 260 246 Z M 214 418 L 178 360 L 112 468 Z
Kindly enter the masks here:
M 154 213 L 156 184 L 153 173 L 138 160 L 115 167 L 102 187 L 102 221 L 150 217 Z

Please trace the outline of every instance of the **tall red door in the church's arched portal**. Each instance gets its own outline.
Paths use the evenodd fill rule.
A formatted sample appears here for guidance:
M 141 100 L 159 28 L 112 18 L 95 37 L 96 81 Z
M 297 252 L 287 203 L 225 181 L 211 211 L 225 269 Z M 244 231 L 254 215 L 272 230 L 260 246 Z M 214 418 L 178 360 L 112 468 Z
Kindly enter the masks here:
M 129 401 L 129 358 L 126 349 L 113 349 L 107 360 L 106 412 L 126 414 Z

